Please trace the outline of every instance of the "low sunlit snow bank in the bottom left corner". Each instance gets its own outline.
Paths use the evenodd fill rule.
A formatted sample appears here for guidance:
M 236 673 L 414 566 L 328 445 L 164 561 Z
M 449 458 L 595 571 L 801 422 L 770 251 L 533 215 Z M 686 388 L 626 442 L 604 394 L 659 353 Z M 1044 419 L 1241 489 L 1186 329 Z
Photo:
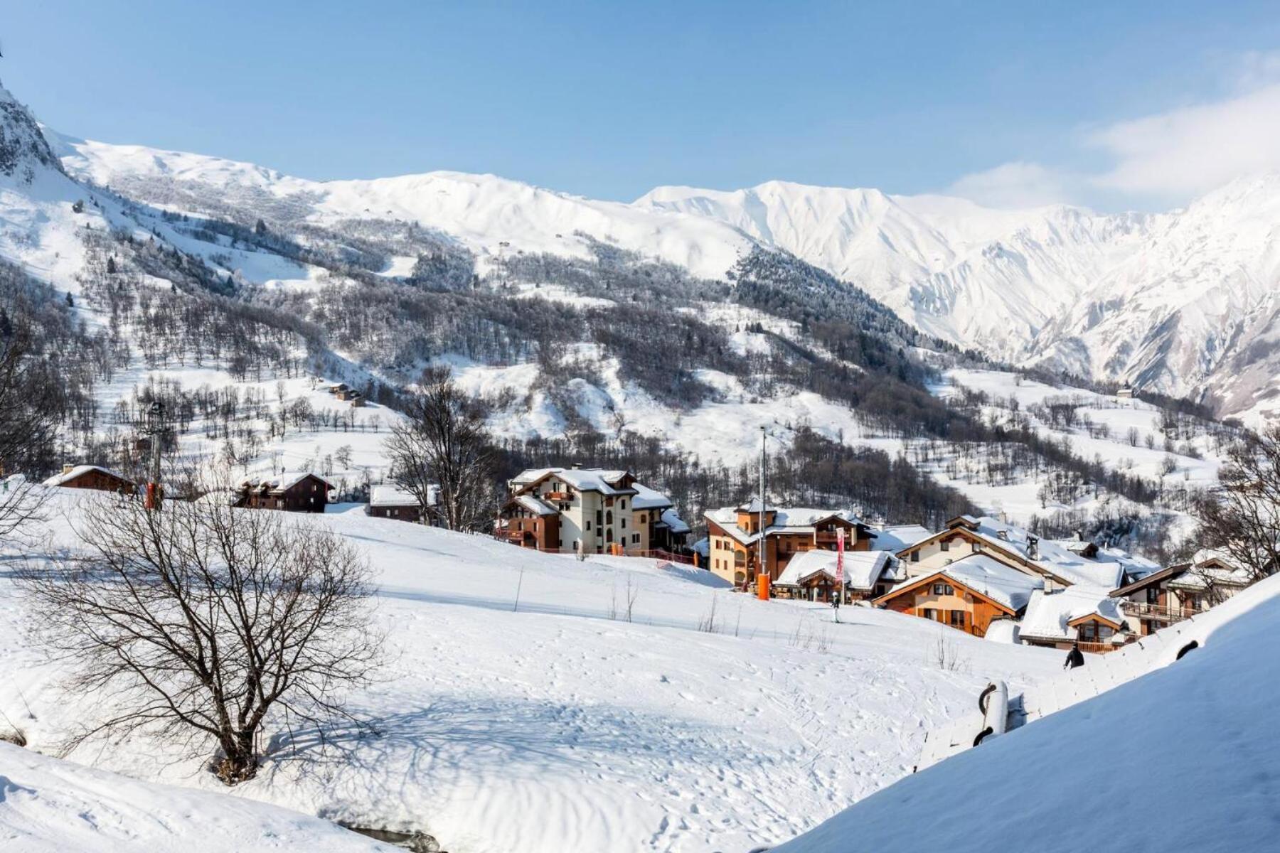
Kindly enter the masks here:
M 275 806 L 136 781 L 0 743 L 0 849 L 390 853 L 394 848 Z

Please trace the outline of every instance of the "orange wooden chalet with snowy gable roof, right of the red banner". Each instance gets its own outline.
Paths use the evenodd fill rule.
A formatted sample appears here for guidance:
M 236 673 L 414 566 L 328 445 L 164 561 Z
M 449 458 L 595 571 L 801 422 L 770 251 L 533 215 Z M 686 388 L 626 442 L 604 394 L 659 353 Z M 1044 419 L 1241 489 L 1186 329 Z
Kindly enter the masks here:
M 983 637 L 992 622 L 1019 618 L 1032 593 L 1042 588 L 1042 578 L 974 552 L 909 577 L 873 604 Z

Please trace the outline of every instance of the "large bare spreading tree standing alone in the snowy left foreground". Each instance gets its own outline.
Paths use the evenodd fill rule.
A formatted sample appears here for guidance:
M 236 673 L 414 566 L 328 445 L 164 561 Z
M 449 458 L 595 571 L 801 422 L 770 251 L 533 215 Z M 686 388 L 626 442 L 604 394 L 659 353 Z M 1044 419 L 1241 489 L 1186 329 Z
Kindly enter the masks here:
M 381 636 L 370 569 L 332 531 L 218 503 L 163 512 L 86 499 L 74 556 L 29 565 L 37 641 L 102 708 L 65 748 L 141 728 L 216 748 L 227 784 L 255 775 L 264 729 L 315 729 L 369 682 Z

